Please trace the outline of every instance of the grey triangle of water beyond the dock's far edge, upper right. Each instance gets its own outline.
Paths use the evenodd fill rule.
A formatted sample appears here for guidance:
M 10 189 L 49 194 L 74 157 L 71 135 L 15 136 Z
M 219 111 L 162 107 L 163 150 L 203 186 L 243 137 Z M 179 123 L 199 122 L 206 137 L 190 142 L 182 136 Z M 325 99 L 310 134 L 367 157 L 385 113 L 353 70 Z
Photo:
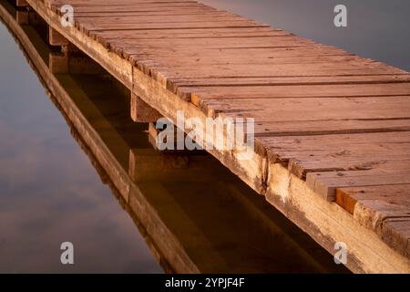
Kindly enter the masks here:
M 410 71 L 410 1 L 201 0 L 316 42 L 343 47 Z M 333 25 L 333 8 L 347 7 L 347 27 Z

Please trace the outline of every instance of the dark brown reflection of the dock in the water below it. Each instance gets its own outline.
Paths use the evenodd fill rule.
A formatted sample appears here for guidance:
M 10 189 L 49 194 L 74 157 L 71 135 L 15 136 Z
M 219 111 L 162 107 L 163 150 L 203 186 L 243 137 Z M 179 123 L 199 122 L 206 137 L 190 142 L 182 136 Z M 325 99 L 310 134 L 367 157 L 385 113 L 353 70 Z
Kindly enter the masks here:
M 169 272 L 337 272 L 333 257 L 208 154 L 162 153 L 129 118 L 129 92 L 107 74 L 53 74 L 41 26 L 0 15 L 102 181 Z M 94 65 L 89 65 L 94 66 Z M 69 158 L 67 158 L 69 159 Z

